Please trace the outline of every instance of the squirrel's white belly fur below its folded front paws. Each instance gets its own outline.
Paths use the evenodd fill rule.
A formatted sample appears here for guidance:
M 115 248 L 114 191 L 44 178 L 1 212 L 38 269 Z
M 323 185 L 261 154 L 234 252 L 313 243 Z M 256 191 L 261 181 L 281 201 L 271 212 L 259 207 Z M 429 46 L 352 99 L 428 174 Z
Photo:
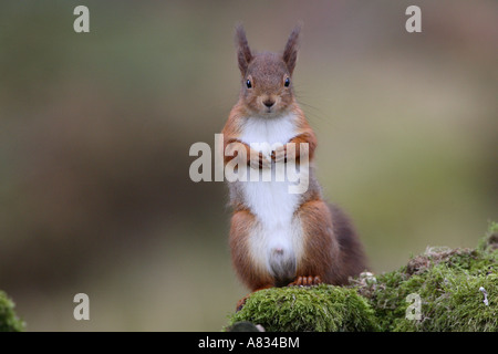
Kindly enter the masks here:
M 288 181 L 241 184 L 247 206 L 258 220 L 249 238 L 251 259 L 277 284 L 288 283 L 294 279 L 303 253 L 302 227 L 294 216 L 300 196 L 289 192 Z

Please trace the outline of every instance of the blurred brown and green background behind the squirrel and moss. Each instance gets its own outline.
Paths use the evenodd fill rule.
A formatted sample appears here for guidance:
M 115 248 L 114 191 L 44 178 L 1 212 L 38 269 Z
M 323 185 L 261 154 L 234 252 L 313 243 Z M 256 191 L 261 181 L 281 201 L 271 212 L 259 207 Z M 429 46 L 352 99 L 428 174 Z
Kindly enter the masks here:
M 90 9 L 90 33 L 73 10 Z M 422 33 L 405 10 L 422 9 Z M 234 28 L 281 51 L 318 175 L 374 272 L 498 220 L 498 2 L 2 1 L 0 289 L 29 331 L 219 331 L 247 290 L 227 188 L 190 181 L 236 103 Z M 90 321 L 73 319 L 74 294 Z

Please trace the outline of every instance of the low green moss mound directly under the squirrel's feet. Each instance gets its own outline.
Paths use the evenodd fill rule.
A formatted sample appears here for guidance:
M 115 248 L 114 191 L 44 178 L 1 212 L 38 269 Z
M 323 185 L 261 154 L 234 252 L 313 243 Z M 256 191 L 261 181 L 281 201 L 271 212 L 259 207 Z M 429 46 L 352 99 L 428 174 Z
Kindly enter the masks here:
M 374 312 L 354 289 L 332 285 L 272 288 L 253 293 L 230 325 L 249 321 L 266 331 L 374 331 Z

